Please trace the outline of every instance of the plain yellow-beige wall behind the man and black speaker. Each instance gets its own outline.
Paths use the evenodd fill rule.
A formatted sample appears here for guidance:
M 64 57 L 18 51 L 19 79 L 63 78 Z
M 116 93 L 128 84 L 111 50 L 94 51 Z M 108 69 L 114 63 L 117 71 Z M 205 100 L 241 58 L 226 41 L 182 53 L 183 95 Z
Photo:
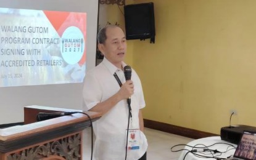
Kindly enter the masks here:
M 142 2 L 154 2 L 155 44 L 129 41 L 127 61 L 142 81 L 144 118 L 220 134 L 234 109 L 232 124 L 255 126 L 256 1 L 126 4 Z M 108 9 L 123 25 L 118 7 Z

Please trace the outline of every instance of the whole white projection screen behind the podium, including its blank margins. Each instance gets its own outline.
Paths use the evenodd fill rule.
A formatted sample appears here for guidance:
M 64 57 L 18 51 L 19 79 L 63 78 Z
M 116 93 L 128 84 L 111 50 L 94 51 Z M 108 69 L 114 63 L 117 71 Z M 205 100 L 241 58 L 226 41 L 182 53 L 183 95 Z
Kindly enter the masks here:
M 23 106 L 81 110 L 83 78 L 96 62 L 98 1 L 0 0 L 0 7 L 16 21 L 1 18 L 0 124 L 23 122 Z M 8 39 L 18 37 L 29 40 Z

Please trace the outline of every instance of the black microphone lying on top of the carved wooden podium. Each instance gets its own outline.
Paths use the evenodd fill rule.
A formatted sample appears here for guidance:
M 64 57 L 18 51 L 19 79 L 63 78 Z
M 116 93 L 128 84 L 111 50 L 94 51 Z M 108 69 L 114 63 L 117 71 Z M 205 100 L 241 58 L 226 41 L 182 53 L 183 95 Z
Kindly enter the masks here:
M 67 116 L 67 115 L 71 115 L 74 113 L 79 113 L 78 111 L 73 111 L 73 112 L 56 112 L 56 113 L 38 113 L 36 115 L 36 121 L 44 121 L 47 119 L 52 119 L 52 118 L 58 118 L 61 116 Z

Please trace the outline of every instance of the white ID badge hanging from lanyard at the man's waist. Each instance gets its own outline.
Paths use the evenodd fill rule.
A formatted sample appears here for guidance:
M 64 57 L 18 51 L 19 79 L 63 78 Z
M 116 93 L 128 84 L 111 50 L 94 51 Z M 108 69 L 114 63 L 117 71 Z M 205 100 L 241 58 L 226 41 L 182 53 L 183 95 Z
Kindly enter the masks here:
M 140 134 L 141 132 L 139 129 L 128 130 L 128 150 L 139 150 Z

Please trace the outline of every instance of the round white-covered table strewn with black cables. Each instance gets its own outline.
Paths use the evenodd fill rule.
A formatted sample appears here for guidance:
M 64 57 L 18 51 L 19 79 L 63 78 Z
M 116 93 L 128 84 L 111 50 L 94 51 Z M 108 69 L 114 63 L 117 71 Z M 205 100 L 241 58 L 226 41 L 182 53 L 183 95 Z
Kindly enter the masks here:
M 213 145 L 215 143 L 218 143 L 216 145 Z M 223 144 L 226 143 L 226 144 Z M 210 153 L 209 151 L 204 151 L 204 152 L 196 152 L 196 154 L 202 155 L 202 156 L 210 156 L 212 157 L 213 155 L 216 158 L 228 158 L 229 156 L 232 156 L 234 154 L 234 151 L 236 150 L 234 147 L 230 146 L 233 145 L 236 147 L 237 145 L 233 143 L 226 142 L 224 140 L 221 140 L 220 136 L 215 136 L 215 137 L 207 137 L 207 138 L 200 138 L 197 140 L 193 140 L 189 142 L 187 145 L 189 146 L 197 146 L 197 147 L 204 147 L 204 146 L 209 146 L 208 149 L 210 150 L 218 150 L 221 152 L 227 151 L 226 153 Z M 210 146 L 213 145 L 213 146 Z M 206 158 L 200 158 L 198 156 L 195 156 L 193 153 L 188 153 L 187 150 L 191 151 L 194 149 L 199 149 L 199 148 L 191 148 L 189 146 L 185 146 L 184 151 L 182 151 L 179 160 L 183 160 L 184 156 L 186 156 L 185 160 L 199 160 L 199 159 L 206 159 Z M 233 148 L 233 149 L 232 149 Z M 176 150 L 173 148 L 173 150 Z M 188 153 L 188 154 L 187 154 Z M 207 159 L 215 159 L 215 158 L 207 158 Z

